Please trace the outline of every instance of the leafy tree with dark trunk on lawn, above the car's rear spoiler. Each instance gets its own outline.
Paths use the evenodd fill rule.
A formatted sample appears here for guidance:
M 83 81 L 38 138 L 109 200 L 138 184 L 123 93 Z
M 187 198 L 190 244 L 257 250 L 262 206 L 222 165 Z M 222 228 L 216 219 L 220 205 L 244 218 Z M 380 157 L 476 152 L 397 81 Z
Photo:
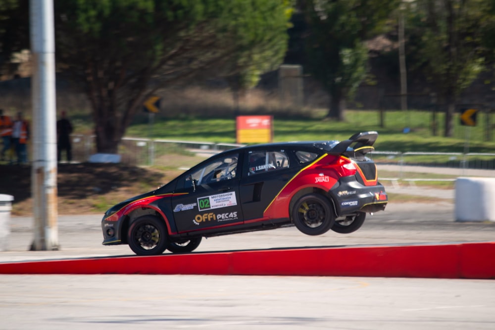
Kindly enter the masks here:
M 366 76 L 364 41 L 382 32 L 398 0 L 300 0 L 308 26 L 308 69 L 331 95 L 327 117 L 344 120 L 345 100 Z

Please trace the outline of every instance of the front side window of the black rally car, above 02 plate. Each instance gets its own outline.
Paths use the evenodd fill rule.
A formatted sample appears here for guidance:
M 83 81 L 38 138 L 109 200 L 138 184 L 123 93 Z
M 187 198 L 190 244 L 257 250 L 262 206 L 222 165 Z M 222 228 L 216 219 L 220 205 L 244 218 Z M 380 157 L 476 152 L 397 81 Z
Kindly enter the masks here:
M 236 177 L 238 159 L 239 154 L 232 154 L 225 158 L 211 161 L 193 172 L 192 179 L 198 186 L 234 179 Z

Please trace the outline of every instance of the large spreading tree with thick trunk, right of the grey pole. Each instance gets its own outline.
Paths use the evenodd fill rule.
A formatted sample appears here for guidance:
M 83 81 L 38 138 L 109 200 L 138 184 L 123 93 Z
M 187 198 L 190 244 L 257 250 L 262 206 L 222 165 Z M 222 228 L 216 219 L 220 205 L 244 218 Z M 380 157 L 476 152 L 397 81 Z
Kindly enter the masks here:
M 158 88 L 207 69 L 235 72 L 222 63 L 263 41 L 265 17 L 285 18 L 279 0 L 266 1 L 271 7 L 256 2 L 56 1 L 57 65 L 88 95 L 98 152 L 117 152 L 134 114 Z

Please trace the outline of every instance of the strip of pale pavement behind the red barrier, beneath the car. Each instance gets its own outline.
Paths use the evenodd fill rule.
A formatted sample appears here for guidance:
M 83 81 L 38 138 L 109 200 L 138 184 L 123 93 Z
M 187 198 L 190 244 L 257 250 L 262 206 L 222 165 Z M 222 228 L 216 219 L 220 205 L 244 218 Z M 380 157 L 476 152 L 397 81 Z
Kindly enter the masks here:
M 0 262 L 58 257 L 133 255 L 127 245 L 103 246 L 101 215 L 60 216 L 59 251 L 28 251 L 33 240 L 33 219 L 11 219 L 9 251 L 0 252 Z M 197 251 L 225 251 L 276 247 L 409 244 L 422 242 L 490 241 L 495 223 L 454 221 L 451 200 L 436 203 L 389 203 L 386 211 L 368 215 L 363 227 L 342 235 L 332 231 L 306 236 L 295 227 L 273 231 L 218 236 L 203 239 Z

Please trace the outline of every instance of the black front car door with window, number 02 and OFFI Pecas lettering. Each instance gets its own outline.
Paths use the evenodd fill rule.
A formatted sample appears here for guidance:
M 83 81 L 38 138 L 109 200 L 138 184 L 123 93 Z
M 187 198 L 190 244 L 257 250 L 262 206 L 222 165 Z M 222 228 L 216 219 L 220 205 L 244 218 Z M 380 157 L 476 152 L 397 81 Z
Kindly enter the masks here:
M 179 233 L 243 223 L 239 153 L 214 157 L 183 175 L 172 197 Z

